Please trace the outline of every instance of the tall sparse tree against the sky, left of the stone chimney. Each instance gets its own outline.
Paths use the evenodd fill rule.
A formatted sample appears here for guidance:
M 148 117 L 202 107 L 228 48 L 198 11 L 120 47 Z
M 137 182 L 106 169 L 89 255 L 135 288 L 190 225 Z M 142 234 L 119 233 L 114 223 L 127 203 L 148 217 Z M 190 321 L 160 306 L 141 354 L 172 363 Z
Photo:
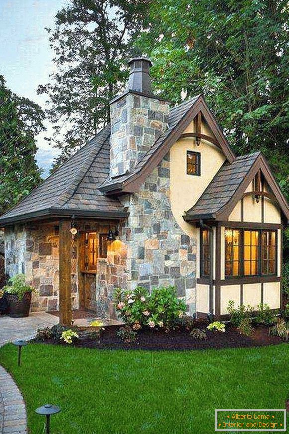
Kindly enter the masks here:
M 131 39 L 149 0 L 70 0 L 50 33 L 56 72 L 39 86 L 49 97 L 52 143 L 61 150 L 55 166 L 109 121 L 109 101 L 127 80 Z

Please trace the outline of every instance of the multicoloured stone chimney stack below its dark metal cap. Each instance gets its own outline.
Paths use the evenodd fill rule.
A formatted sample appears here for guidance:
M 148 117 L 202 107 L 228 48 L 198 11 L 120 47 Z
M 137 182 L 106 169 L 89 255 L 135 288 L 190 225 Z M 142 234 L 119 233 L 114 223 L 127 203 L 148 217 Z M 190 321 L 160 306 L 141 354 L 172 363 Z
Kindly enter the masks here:
M 110 105 L 110 175 L 131 171 L 168 127 L 169 104 L 127 93 Z

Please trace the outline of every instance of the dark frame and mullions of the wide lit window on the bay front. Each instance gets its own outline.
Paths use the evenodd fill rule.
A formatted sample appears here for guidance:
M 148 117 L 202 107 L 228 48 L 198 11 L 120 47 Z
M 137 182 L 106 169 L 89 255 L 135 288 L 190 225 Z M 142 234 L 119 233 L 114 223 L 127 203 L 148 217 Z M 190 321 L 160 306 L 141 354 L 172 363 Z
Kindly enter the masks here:
M 240 245 L 239 245 L 239 274 L 238 275 L 226 275 L 226 238 L 224 239 L 224 272 L 225 279 L 238 279 L 238 278 L 254 278 L 254 277 L 266 277 L 266 276 L 277 276 L 277 266 L 278 266 L 278 231 L 277 229 L 249 229 L 249 228 L 232 228 L 225 227 L 226 230 L 239 230 L 240 231 Z M 257 261 L 257 274 L 245 274 L 244 273 L 244 232 L 258 232 L 258 261 Z M 275 246 L 274 246 L 274 272 L 273 273 L 263 273 L 262 272 L 262 262 L 263 262 L 263 251 L 262 251 L 262 239 L 263 232 L 274 232 L 275 233 Z

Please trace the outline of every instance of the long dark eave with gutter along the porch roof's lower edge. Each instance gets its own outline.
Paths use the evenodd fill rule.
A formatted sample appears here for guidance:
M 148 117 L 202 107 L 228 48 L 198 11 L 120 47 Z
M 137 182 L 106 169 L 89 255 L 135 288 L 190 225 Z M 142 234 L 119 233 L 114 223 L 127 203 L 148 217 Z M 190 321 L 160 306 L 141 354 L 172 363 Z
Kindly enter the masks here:
M 0 227 L 9 226 L 15 223 L 25 223 L 34 220 L 43 220 L 46 218 L 61 218 L 70 217 L 74 218 L 93 218 L 93 219 L 121 219 L 127 218 L 129 213 L 127 211 L 93 211 L 93 210 L 75 210 L 75 209 L 59 209 L 47 208 L 45 210 L 34 211 L 19 216 L 0 218 Z

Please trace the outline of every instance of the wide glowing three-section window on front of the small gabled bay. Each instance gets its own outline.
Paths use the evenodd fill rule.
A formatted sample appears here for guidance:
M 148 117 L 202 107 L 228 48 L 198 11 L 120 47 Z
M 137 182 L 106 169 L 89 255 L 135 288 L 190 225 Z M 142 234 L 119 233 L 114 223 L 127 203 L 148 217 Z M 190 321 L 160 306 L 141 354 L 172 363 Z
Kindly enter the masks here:
M 225 277 L 276 274 L 275 230 L 225 229 Z

